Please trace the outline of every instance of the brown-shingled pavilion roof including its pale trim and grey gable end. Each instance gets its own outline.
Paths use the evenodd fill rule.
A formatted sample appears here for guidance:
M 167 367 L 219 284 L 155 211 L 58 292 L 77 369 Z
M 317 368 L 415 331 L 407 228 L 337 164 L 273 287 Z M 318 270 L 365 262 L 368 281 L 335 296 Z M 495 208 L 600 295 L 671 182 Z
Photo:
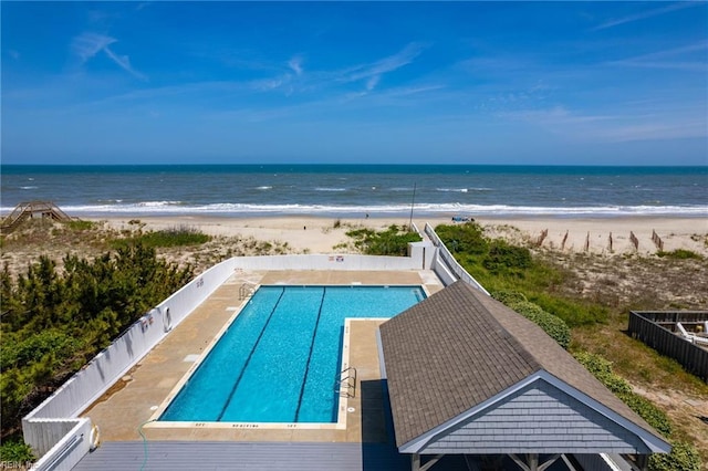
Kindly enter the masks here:
M 431 295 L 384 323 L 379 332 L 396 444 L 402 452 L 420 452 L 423 446 L 413 443 L 421 437 L 444 433 L 451 423 L 459 429 L 460 417 L 477 420 L 492 402 L 498 407 L 499 398 L 512 390 L 519 397 L 530 388 L 546 402 L 551 398 L 574 408 L 571 412 L 582 409 L 583 420 L 600 417 L 586 423 L 605 427 L 623 443 L 635 443 L 636 452 L 670 450 L 652 427 L 540 327 L 467 283 L 456 282 Z M 529 386 L 529 378 L 542 385 Z M 605 426 L 598 426 L 601 422 Z M 489 427 L 477 426 L 480 430 Z M 556 438 L 554 447 L 562 448 L 568 440 Z M 581 440 L 575 452 L 583 449 Z

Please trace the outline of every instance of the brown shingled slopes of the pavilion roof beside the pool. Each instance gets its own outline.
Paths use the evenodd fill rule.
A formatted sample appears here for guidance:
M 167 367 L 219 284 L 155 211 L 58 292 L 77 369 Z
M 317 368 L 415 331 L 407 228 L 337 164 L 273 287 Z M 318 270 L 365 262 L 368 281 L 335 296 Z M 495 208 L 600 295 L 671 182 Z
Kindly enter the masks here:
M 464 282 L 456 282 L 381 326 L 398 447 L 467 412 L 530 375 L 545 370 L 649 433 L 656 432 L 540 327 Z M 537 398 L 541 402 L 535 402 Z M 558 404 L 533 393 L 523 410 L 496 410 L 494 421 Z

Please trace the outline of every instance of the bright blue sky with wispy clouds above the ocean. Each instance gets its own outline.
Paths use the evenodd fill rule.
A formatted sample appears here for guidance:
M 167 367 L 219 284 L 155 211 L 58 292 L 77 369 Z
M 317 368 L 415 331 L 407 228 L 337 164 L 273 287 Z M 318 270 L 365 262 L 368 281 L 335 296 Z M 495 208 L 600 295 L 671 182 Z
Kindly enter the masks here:
M 8 2 L 3 164 L 708 165 L 708 2 Z

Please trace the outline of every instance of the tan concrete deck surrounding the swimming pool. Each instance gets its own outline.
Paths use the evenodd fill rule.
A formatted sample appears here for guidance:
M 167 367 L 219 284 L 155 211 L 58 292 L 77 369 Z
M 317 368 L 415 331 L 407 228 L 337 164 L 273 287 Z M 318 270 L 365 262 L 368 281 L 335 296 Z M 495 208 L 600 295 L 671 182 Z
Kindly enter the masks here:
M 383 321 L 353 321 L 350 326 L 348 364 L 356 367 L 356 394 L 345 412 L 346 427 L 334 425 L 192 423 L 171 427 L 149 421 L 219 332 L 246 304 L 244 284 L 285 285 L 421 285 L 428 295 L 442 289 L 431 271 L 239 271 L 137 363 L 122 379 L 90 406 L 90 417 L 101 429 L 102 441 L 236 440 L 378 442 L 386 441 L 384 393 L 378 368 L 376 329 Z

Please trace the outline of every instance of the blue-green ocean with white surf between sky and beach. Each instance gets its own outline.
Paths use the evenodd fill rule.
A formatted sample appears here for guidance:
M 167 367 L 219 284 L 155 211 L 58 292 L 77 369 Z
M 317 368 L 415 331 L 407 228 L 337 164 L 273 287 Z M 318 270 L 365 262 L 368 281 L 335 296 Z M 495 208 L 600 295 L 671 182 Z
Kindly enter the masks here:
M 2 166 L 2 213 L 708 217 L 708 167 Z

